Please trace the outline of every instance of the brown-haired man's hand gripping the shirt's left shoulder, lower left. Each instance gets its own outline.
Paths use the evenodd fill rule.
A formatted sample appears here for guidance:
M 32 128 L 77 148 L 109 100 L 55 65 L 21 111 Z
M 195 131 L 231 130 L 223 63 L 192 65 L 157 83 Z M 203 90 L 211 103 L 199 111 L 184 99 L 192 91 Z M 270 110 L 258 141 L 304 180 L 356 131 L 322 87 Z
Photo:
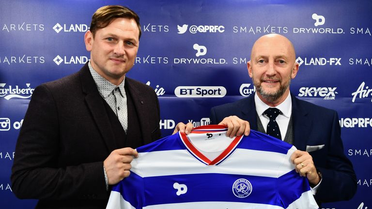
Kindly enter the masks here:
M 103 162 L 109 185 L 116 184 L 130 174 L 133 157 L 138 157 L 138 152 L 132 148 L 113 150 Z

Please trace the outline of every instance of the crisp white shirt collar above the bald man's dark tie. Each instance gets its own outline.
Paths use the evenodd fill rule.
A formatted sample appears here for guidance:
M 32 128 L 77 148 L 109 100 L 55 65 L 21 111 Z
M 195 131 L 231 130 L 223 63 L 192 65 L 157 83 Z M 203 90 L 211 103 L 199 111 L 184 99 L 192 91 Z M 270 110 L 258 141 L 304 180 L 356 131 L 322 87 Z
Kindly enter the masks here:
M 254 94 L 254 102 L 256 104 L 256 111 L 257 111 L 257 114 L 259 116 L 261 116 L 263 114 L 263 112 L 271 107 L 267 104 L 265 104 L 257 95 L 257 92 Z M 291 117 L 291 113 L 292 113 L 292 97 L 291 97 L 291 92 L 288 94 L 287 98 L 282 102 L 280 103 L 278 106 L 276 106 L 276 108 L 278 108 L 281 112 L 282 112 L 282 115 L 287 117 L 287 118 L 290 118 Z

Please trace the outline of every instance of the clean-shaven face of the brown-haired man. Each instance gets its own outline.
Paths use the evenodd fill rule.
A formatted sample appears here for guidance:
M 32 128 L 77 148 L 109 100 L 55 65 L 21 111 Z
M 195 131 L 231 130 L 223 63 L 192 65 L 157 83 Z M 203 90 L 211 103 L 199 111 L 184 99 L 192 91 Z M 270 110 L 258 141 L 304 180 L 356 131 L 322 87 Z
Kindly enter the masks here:
M 140 30 L 134 19 L 116 18 L 105 27 L 85 33 L 85 46 L 91 52 L 93 69 L 114 85 L 119 85 L 133 67 Z

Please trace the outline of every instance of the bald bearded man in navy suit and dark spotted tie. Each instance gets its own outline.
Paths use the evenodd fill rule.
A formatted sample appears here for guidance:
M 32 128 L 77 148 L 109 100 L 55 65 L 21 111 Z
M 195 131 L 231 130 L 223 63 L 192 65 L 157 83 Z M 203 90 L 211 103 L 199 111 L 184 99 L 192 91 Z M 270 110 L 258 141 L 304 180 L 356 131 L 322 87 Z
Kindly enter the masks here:
M 356 175 L 343 152 L 337 112 L 290 93 L 290 81 L 298 72 L 292 43 L 279 34 L 262 36 L 254 43 L 247 66 L 256 93 L 213 107 L 211 124 L 228 126 L 231 137 L 248 135 L 250 128 L 293 144 L 298 150 L 291 160 L 296 172 L 309 179 L 318 204 L 351 199 Z M 271 119 L 266 110 L 278 116 Z M 179 123 L 176 130 L 189 132 L 190 127 Z

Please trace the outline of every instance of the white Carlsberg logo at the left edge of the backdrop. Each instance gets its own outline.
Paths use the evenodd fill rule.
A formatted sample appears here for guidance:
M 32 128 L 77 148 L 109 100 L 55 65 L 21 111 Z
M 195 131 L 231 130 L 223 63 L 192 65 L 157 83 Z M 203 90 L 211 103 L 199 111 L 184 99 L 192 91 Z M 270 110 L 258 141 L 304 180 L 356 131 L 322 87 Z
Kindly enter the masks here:
M 4 88 L 6 83 L 0 83 L 0 97 L 3 97 L 6 100 L 13 98 L 27 99 L 30 98 L 34 89 L 30 87 L 30 84 L 27 83 L 27 88 L 19 88 L 19 86 L 8 86 Z

